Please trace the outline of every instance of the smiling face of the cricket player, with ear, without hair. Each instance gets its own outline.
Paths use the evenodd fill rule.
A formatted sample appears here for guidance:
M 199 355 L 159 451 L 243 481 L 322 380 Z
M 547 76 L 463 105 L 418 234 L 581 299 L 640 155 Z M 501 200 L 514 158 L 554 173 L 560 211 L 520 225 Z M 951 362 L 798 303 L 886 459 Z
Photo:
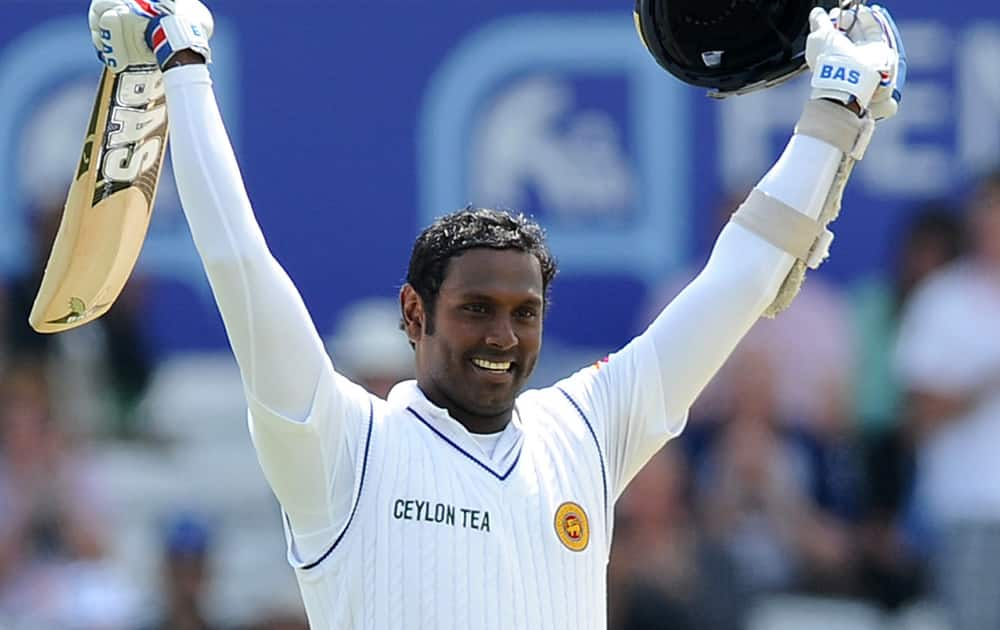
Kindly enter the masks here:
M 405 287 L 407 334 L 427 397 L 470 430 L 501 430 L 538 358 L 543 296 L 533 254 L 472 249 L 449 262 L 427 334 L 427 313 Z

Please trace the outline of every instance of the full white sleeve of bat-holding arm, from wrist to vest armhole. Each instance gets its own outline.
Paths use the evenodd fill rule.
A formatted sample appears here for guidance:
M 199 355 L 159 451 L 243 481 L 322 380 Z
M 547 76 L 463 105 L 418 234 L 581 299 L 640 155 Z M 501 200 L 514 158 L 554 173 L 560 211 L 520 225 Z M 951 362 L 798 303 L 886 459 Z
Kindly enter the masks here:
M 165 82 L 177 189 L 240 367 L 264 473 L 297 530 L 332 527 L 350 503 L 370 401 L 333 371 L 264 242 L 208 68 L 180 66 Z

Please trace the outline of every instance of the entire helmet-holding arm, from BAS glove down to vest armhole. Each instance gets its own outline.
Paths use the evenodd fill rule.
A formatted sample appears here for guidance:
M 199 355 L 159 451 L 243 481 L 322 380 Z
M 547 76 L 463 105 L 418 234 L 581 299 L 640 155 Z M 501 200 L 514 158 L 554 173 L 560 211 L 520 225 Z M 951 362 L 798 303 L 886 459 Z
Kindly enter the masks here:
M 860 11 L 854 43 L 814 9 L 806 50 L 811 98 L 785 151 L 722 230 L 702 272 L 606 365 L 564 384 L 605 419 L 615 493 L 683 429 L 688 409 L 754 322 L 785 308 L 806 269 L 825 258 L 832 238 L 826 226 L 840 210 L 874 117 L 895 113 L 898 98 L 895 27 L 888 14 Z M 899 87 L 902 80 L 900 72 Z

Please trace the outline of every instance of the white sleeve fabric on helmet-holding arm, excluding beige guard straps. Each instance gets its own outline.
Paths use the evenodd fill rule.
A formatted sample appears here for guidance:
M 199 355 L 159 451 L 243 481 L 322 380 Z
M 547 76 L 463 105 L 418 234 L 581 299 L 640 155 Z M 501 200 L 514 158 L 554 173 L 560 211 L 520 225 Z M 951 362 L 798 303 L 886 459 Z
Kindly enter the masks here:
M 841 158 L 832 146 L 793 136 L 758 188 L 816 218 Z M 793 262 L 730 223 L 702 272 L 646 332 L 559 384 L 603 435 L 612 500 L 680 433 L 688 409 L 774 300 Z

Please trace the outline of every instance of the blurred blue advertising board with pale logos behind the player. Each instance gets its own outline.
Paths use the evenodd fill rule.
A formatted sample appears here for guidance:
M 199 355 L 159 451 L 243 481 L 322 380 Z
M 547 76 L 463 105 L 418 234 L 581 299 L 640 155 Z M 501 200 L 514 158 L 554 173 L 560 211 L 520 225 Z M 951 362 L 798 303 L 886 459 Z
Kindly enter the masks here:
M 31 217 L 61 203 L 77 157 L 100 72 L 85 4 L 0 1 L 5 276 L 32 259 Z M 650 291 L 704 260 L 718 204 L 774 161 L 807 89 L 711 101 L 656 66 L 623 1 L 209 4 L 250 197 L 322 332 L 347 304 L 393 295 L 419 229 L 473 204 L 547 227 L 550 338 L 621 344 Z M 890 6 L 909 83 L 835 224 L 822 273 L 844 285 L 886 268 L 916 204 L 960 203 L 1000 163 L 1000 6 Z M 169 169 L 136 276 L 159 352 L 224 343 Z

